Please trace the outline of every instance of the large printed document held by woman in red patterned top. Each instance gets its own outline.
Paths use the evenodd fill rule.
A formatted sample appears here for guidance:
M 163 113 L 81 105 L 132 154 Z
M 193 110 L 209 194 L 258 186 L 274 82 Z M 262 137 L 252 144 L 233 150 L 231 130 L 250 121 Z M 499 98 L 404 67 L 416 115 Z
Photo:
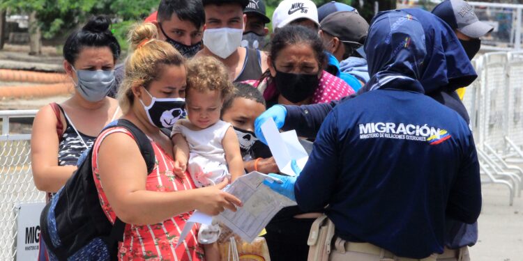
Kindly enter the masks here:
M 274 192 L 263 184 L 267 175 L 253 171 L 238 177 L 231 186 L 224 189 L 239 198 L 243 207 L 236 212 L 225 209 L 216 219 L 245 242 L 252 242 L 283 207 L 296 205 L 296 202 Z

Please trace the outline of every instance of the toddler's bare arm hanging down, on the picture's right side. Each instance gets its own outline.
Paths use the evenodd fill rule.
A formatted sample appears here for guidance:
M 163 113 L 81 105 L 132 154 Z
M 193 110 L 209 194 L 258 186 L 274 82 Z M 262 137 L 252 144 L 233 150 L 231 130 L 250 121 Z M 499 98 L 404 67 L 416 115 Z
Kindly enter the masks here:
M 225 150 L 225 159 L 231 173 L 231 182 L 243 175 L 243 159 L 241 158 L 240 143 L 232 127 L 227 129 L 222 141 L 223 150 Z

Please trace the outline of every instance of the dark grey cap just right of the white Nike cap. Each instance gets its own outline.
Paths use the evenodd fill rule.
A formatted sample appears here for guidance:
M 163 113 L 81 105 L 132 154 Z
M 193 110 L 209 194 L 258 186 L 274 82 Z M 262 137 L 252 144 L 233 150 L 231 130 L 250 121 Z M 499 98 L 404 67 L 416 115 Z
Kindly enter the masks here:
M 319 23 L 321 31 L 333 35 L 342 42 L 360 44 L 365 43 L 369 24 L 361 15 L 354 11 L 342 11 L 327 15 Z

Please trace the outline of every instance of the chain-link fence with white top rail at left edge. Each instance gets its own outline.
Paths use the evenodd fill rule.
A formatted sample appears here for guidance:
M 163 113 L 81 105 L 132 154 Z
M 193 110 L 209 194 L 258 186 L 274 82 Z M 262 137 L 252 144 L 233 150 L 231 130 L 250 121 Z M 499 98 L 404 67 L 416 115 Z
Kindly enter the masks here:
M 38 191 L 31 173 L 31 136 L 13 134 L 10 119 L 34 117 L 36 111 L 0 111 L 0 260 L 15 260 L 17 205 L 42 203 L 45 193 Z

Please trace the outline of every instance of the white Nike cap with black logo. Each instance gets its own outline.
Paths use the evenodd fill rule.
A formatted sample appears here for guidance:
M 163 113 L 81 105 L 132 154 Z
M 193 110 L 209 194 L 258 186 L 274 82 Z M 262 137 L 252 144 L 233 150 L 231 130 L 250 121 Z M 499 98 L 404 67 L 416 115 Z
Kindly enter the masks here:
M 310 0 L 283 0 L 273 13 L 273 31 L 287 24 L 319 30 L 318 9 Z

